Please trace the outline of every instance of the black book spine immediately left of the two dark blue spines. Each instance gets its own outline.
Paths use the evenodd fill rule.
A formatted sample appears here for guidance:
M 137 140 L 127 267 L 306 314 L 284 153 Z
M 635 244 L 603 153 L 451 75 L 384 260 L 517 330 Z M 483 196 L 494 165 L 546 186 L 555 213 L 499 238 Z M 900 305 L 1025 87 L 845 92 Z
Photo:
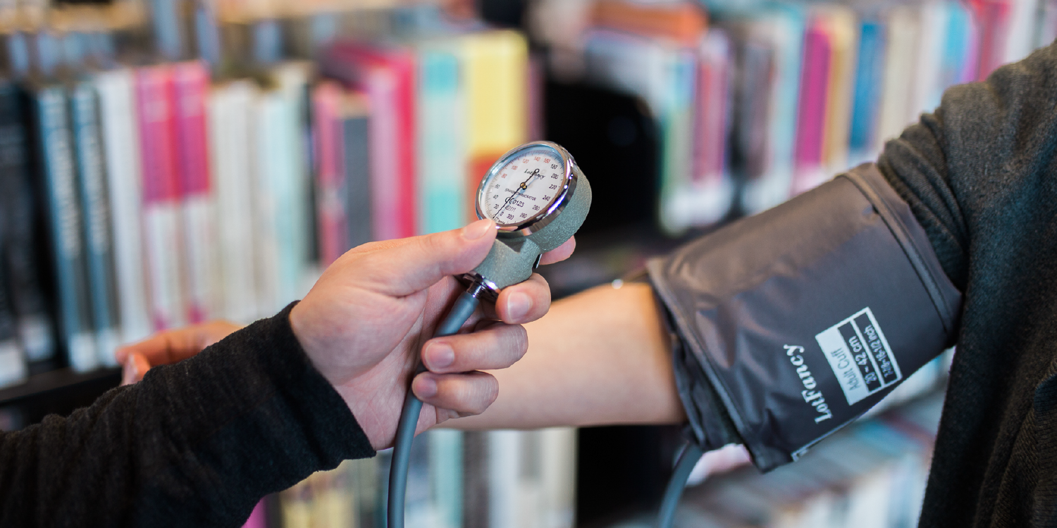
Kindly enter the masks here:
M 30 361 L 55 355 L 52 316 L 41 284 L 37 232 L 39 199 L 34 191 L 23 98 L 13 84 L 0 87 L 0 186 L 3 195 L 5 242 L 3 264 L 7 269 L 11 303 L 17 320 L 18 339 Z

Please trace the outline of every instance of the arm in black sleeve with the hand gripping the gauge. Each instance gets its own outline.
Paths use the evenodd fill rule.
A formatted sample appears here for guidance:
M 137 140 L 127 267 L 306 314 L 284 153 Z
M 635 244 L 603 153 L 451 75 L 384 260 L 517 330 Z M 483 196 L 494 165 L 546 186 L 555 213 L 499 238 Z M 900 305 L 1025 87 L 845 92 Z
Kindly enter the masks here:
M 463 333 L 430 339 L 462 289 L 451 276 L 479 264 L 494 238 L 482 221 L 360 246 L 278 316 L 67 418 L 0 433 L 0 526 L 237 526 L 264 494 L 391 445 L 412 378 L 420 429 L 480 412 L 496 380 L 476 371 L 520 358 L 519 323 L 550 304 L 536 276 Z M 423 345 L 435 357 L 439 341 L 474 360 L 415 374 Z

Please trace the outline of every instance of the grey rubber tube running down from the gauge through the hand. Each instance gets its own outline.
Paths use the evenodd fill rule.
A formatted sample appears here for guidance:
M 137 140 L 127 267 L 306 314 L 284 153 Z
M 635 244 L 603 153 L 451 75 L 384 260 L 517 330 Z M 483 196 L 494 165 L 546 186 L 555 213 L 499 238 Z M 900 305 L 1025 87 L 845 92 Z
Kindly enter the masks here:
M 459 333 L 463 323 L 474 315 L 479 301 L 481 288 L 475 284 L 470 289 L 464 291 L 455 304 L 451 312 L 444 318 L 433 337 L 451 336 Z M 425 372 L 422 362 L 419 363 L 418 372 Z M 396 440 L 393 447 L 392 466 L 389 468 L 389 511 L 388 528 L 404 528 L 404 495 L 407 492 L 407 468 L 411 457 L 411 442 L 414 441 L 414 429 L 419 425 L 419 414 L 422 412 L 422 400 L 414 396 L 411 388 L 408 386 L 407 395 L 404 397 L 404 409 L 400 414 L 400 422 L 396 425 Z

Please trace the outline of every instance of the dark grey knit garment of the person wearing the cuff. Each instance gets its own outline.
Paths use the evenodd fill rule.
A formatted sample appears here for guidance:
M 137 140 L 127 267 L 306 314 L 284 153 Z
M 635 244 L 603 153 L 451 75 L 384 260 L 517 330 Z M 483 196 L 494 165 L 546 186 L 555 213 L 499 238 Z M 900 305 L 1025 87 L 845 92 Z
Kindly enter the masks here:
M 964 293 L 921 526 L 1057 526 L 1057 44 L 878 161 Z

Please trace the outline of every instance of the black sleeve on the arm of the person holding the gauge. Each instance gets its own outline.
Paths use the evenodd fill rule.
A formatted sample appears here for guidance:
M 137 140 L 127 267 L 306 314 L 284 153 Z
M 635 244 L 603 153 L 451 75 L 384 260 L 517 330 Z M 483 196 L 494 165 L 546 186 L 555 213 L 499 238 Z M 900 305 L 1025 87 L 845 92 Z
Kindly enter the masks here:
M 70 417 L 0 435 L 2 526 L 230 526 L 265 494 L 374 454 L 288 306 Z

